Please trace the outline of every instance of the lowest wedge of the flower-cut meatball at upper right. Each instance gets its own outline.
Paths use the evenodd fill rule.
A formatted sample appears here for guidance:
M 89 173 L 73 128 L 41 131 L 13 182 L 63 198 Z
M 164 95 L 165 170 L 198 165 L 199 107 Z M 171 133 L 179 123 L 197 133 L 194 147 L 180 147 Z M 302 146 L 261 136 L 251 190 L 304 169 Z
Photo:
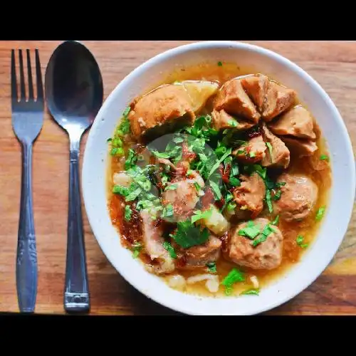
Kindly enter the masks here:
M 284 142 L 268 130 L 263 125 L 263 136 L 266 142 L 266 155 L 262 160 L 263 167 L 282 167 L 287 168 L 290 162 L 290 152 Z

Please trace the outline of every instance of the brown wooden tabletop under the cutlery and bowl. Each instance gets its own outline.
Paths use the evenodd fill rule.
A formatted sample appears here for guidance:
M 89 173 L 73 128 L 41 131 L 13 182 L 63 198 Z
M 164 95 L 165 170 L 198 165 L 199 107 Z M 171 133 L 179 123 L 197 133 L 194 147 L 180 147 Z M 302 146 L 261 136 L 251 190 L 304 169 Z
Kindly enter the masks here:
M 21 151 L 11 127 L 10 50 L 38 48 L 44 71 L 58 41 L 0 42 L 0 312 L 17 312 L 15 259 Z M 103 73 L 105 98 L 132 69 L 187 41 L 83 42 Z M 253 42 L 281 53 L 318 80 L 334 100 L 356 148 L 356 42 Z M 82 152 L 85 147 L 82 142 Z M 63 313 L 68 206 L 68 138 L 46 115 L 33 152 L 38 247 L 37 313 Z M 100 250 L 84 214 L 92 314 L 174 314 L 132 288 Z M 356 214 L 335 258 L 307 290 L 270 314 L 356 314 Z

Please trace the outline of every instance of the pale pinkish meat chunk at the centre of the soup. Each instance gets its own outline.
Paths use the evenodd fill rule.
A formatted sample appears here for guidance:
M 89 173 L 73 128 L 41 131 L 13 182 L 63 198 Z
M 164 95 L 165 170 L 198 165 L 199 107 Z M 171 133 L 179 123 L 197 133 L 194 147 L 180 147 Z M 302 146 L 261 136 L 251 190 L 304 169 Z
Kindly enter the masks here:
M 192 172 L 191 175 L 192 179 L 180 177 L 181 180 L 179 181 L 169 182 L 162 194 L 162 204 L 172 204 L 173 206 L 174 221 L 188 219 L 193 214 L 199 197 L 204 194 L 204 180 L 197 172 Z M 201 187 L 199 191 L 194 183 L 199 184 Z

